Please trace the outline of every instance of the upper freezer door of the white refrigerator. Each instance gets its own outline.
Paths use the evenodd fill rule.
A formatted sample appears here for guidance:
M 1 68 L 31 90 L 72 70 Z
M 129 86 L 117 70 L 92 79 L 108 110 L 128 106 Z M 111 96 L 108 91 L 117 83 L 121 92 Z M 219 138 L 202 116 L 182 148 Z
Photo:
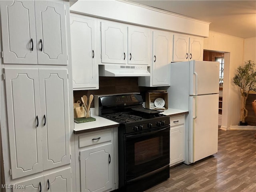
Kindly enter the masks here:
M 219 92 L 220 63 L 190 61 L 190 95 Z

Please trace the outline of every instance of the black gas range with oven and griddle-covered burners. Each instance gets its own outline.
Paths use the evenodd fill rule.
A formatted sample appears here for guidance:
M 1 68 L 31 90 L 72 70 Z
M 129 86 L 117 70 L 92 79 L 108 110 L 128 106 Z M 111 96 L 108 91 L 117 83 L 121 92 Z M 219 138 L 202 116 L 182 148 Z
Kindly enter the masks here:
M 119 190 L 142 192 L 169 178 L 169 116 L 143 108 L 138 93 L 95 96 L 94 102 L 96 114 L 120 124 Z

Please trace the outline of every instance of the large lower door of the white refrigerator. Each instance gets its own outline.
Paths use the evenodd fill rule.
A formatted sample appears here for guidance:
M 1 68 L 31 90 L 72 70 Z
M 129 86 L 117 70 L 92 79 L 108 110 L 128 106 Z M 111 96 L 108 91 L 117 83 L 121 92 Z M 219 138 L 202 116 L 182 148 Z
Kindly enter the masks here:
M 190 162 L 218 151 L 218 98 L 219 94 L 190 96 Z

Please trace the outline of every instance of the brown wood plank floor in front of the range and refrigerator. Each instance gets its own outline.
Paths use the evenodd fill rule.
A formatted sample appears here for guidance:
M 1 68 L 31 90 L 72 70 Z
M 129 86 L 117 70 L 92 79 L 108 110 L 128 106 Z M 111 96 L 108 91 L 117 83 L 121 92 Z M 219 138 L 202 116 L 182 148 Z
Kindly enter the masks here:
M 170 178 L 146 192 L 256 192 L 255 131 L 218 131 L 218 153 L 170 168 Z

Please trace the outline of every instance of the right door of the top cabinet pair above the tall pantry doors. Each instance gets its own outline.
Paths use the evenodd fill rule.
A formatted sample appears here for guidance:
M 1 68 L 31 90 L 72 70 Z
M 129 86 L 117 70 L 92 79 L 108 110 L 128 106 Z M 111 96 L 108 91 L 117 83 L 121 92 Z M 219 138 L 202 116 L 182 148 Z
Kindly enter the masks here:
M 35 1 L 38 64 L 67 64 L 64 4 Z

